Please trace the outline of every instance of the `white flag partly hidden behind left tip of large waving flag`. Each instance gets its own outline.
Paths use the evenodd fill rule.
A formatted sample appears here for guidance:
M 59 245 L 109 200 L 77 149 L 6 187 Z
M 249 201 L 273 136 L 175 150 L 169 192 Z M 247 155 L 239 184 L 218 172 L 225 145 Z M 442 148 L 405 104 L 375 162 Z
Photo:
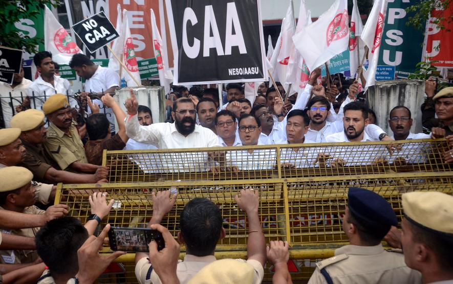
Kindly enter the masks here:
M 305 0 L 300 1 L 299 17 L 297 21 L 296 33 L 301 32 L 305 27 L 310 25 L 311 13 L 305 6 Z M 292 40 L 292 39 L 291 39 Z M 304 67 L 305 65 L 305 67 Z M 291 87 L 290 95 L 299 92 L 300 89 L 305 88 L 310 74 L 308 73 L 307 65 L 304 58 L 296 50 L 294 44 L 292 46 L 291 54 L 288 62 L 288 69 L 286 72 L 286 83 L 293 84 Z

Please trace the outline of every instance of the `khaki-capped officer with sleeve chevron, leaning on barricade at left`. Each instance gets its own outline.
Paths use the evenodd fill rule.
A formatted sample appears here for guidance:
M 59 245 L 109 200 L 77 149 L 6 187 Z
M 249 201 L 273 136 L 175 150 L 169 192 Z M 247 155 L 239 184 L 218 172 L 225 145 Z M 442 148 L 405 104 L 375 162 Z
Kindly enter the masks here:
M 61 93 L 54 94 L 42 105 L 42 110 L 51 122 L 44 146 L 61 170 L 96 172 L 99 166 L 88 163 L 68 98 Z

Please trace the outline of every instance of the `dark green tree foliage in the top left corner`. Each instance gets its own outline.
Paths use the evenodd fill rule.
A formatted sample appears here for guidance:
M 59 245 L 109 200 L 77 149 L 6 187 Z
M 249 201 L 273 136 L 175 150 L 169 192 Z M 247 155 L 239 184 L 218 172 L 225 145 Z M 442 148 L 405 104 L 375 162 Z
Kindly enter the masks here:
M 14 28 L 14 23 L 20 19 L 34 18 L 44 8 L 44 5 L 58 6 L 60 0 L 0 0 L 0 45 L 9 48 L 24 49 L 28 53 L 35 53 L 36 45 L 42 38 L 30 38 Z

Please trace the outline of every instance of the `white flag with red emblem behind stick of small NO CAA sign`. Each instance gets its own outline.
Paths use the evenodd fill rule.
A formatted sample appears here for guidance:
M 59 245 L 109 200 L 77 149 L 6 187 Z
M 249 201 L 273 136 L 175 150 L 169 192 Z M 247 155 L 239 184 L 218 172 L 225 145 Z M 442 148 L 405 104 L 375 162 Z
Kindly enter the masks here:
M 126 80 L 128 87 L 136 87 L 141 82 L 140 73 L 138 70 L 137 58 L 135 57 L 134 44 L 131 35 L 131 29 L 127 19 L 127 10 L 123 10 L 121 13 L 121 6 L 117 5 L 118 17 L 116 20 L 116 30 L 120 36 L 113 41 L 112 50 L 116 57 L 119 58 L 129 70 L 135 80 L 128 74 L 126 70 L 123 70 L 123 66 L 115 56 L 110 53 L 109 56 L 109 68 L 116 70 L 120 74 L 120 78 Z M 122 14 L 122 17 L 121 17 Z

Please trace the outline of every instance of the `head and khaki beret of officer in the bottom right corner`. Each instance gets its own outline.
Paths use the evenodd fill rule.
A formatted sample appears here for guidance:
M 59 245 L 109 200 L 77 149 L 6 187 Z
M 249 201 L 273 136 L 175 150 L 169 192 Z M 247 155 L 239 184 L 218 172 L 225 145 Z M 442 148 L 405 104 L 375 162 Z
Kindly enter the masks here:
M 408 267 L 423 283 L 453 283 L 453 196 L 440 192 L 402 195 L 401 244 Z

